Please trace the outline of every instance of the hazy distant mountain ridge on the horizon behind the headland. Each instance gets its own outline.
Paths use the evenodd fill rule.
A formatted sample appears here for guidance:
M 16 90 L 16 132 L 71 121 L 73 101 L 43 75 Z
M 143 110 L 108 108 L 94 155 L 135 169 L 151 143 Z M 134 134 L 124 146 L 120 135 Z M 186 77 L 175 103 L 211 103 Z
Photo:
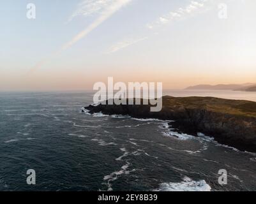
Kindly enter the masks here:
M 186 88 L 187 90 L 232 90 L 232 91 L 256 91 L 256 84 L 200 84 Z

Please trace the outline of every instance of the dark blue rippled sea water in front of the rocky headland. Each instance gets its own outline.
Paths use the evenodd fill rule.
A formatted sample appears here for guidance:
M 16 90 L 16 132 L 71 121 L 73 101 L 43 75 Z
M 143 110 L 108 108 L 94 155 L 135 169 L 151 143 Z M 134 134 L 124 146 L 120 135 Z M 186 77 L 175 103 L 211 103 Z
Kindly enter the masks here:
M 1 93 L 0 190 L 256 190 L 255 154 L 179 135 L 164 121 L 81 113 L 91 103 L 89 92 Z

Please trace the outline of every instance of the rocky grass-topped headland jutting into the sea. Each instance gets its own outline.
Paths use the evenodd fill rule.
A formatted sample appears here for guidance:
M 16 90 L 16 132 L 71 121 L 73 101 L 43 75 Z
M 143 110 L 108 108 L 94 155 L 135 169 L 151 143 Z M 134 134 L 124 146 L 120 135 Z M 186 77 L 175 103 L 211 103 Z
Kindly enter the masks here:
M 89 113 L 174 120 L 172 127 L 183 133 L 204 133 L 225 145 L 256 152 L 256 103 L 252 101 L 165 96 L 160 112 L 150 112 L 150 105 L 98 105 L 86 109 Z

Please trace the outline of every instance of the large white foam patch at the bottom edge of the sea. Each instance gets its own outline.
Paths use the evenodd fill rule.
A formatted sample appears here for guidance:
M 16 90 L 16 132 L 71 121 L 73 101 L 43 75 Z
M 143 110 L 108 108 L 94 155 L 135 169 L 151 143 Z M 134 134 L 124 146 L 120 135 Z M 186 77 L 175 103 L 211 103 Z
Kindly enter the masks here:
M 184 177 L 182 182 L 160 184 L 160 187 L 155 191 L 211 191 L 211 186 L 205 180 L 195 181 Z

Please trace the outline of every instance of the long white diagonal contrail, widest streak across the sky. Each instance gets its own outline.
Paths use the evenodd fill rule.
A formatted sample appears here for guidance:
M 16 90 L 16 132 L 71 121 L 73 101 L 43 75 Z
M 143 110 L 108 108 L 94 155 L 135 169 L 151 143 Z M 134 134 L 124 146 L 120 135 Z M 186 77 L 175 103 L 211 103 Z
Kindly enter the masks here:
M 49 57 L 47 57 L 47 59 L 44 59 L 42 61 L 40 61 L 38 64 L 36 64 L 36 66 L 34 66 L 30 72 L 35 71 L 36 69 L 40 68 L 41 66 L 43 66 L 43 64 L 46 64 L 49 59 L 51 59 L 52 57 L 54 57 L 57 54 L 60 54 L 61 52 L 63 52 L 64 50 L 72 47 L 72 45 L 74 45 L 75 43 L 77 43 L 79 40 L 81 40 L 82 38 L 86 37 L 87 34 L 91 33 L 91 31 L 93 31 L 96 27 L 98 27 L 100 24 L 102 24 L 105 20 L 107 20 L 109 17 L 111 17 L 114 13 L 116 13 L 116 11 L 118 11 L 121 7 L 125 6 L 126 4 L 130 3 L 130 1 L 132 0 L 116 0 L 113 4 L 111 4 L 110 6 L 108 6 L 105 11 L 102 12 L 102 15 L 100 15 L 100 17 L 98 17 L 96 20 L 94 20 L 94 22 L 92 24 L 90 24 L 88 27 L 86 27 L 86 29 L 84 29 L 83 31 L 81 31 L 79 34 L 77 34 L 75 37 L 72 38 L 72 40 L 68 41 L 68 43 L 65 43 L 63 45 L 63 47 L 61 47 L 60 50 L 58 50 L 57 52 L 54 52 L 52 55 L 50 55 Z

